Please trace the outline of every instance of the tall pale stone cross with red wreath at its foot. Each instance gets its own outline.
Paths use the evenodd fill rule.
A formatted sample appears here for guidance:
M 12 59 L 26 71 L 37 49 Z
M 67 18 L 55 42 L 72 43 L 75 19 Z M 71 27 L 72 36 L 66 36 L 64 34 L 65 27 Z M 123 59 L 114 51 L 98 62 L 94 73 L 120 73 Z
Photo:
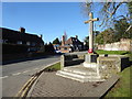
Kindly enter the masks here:
M 85 23 L 89 23 L 89 50 L 88 53 L 94 53 L 94 21 L 98 21 L 99 19 L 94 19 L 92 12 L 89 13 L 89 20 L 85 21 Z

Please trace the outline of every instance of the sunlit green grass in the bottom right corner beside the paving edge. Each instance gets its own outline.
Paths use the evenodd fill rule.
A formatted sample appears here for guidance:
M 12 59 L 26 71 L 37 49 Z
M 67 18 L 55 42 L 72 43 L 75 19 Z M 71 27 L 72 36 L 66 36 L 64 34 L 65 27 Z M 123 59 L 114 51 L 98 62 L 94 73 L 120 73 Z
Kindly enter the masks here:
M 110 98 L 110 97 L 132 97 L 131 91 L 132 89 L 130 88 L 130 79 L 132 77 L 130 76 L 130 70 L 132 69 L 131 67 L 125 68 L 123 72 L 119 73 L 120 75 L 120 80 L 118 84 L 106 95 L 105 98 Z

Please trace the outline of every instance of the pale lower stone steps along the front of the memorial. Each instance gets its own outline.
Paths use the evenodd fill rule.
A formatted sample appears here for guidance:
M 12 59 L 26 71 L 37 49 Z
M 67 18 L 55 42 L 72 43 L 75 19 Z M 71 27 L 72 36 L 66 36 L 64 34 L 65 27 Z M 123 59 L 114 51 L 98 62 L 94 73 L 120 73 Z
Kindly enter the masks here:
M 105 79 L 101 79 L 100 76 L 98 75 L 81 75 L 77 73 L 70 73 L 70 72 L 65 72 L 65 70 L 58 70 L 56 75 L 74 79 L 80 82 L 87 82 L 87 81 L 103 81 Z

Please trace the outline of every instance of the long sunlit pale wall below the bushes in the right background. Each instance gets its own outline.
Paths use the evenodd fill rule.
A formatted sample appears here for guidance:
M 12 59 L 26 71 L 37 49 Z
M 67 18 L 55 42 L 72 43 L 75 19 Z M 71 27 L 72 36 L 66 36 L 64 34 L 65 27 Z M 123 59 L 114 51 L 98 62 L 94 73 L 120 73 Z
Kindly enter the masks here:
M 105 51 L 132 51 L 132 40 L 122 38 L 120 42 L 98 45 L 98 50 Z

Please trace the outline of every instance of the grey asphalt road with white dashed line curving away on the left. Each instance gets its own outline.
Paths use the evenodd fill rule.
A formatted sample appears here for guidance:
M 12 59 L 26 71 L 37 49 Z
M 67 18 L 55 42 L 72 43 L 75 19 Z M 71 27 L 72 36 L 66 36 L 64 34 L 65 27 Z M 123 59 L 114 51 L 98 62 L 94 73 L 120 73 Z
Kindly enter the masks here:
M 59 61 L 59 56 L 26 61 L 2 66 L 2 97 L 13 97 L 33 74 L 44 66 Z

